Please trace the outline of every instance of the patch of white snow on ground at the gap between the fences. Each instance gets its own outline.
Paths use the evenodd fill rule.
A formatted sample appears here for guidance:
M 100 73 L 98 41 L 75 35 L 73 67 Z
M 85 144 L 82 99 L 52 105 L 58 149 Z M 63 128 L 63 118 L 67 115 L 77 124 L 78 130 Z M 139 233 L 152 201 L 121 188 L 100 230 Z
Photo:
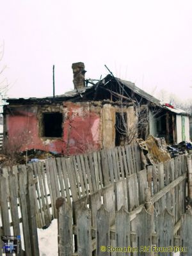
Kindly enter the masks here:
M 40 256 L 58 256 L 58 221 L 52 220 L 49 228 L 37 232 Z

